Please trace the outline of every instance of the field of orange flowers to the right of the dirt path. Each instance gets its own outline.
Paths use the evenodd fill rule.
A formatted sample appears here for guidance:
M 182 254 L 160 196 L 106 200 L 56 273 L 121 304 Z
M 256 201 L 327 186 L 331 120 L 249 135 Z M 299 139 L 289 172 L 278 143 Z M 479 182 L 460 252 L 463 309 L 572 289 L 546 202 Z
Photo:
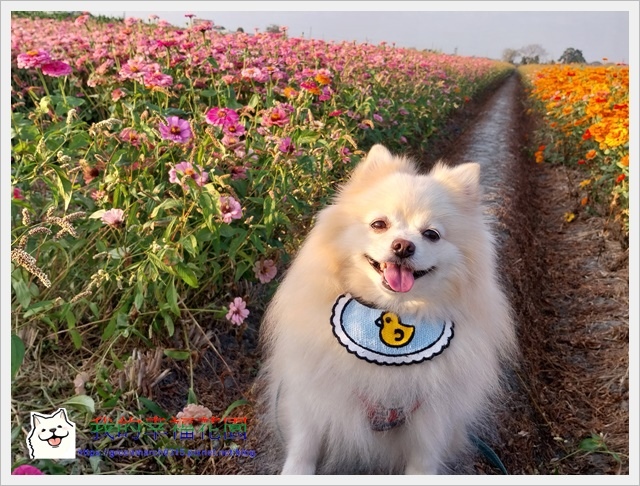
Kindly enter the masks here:
M 604 207 L 628 235 L 628 66 L 537 67 L 528 76 L 544 118 L 536 161 L 583 169 L 582 206 Z

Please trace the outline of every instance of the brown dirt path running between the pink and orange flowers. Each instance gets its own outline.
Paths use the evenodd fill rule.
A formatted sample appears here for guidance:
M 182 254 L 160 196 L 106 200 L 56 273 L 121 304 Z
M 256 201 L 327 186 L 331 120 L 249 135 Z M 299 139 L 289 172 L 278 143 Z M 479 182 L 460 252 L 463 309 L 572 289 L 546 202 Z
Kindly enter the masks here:
M 482 165 L 522 348 L 485 439 L 511 474 L 628 474 L 628 251 L 603 218 L 579 213 L 576 171 L 527 157 L 522 101 L 513 76 L 445 152 Z M 598 452 L 581 451 L 592 433 L 603 434 L 590 444 Z M 481 458 L 476 470 L 495 473 Z

